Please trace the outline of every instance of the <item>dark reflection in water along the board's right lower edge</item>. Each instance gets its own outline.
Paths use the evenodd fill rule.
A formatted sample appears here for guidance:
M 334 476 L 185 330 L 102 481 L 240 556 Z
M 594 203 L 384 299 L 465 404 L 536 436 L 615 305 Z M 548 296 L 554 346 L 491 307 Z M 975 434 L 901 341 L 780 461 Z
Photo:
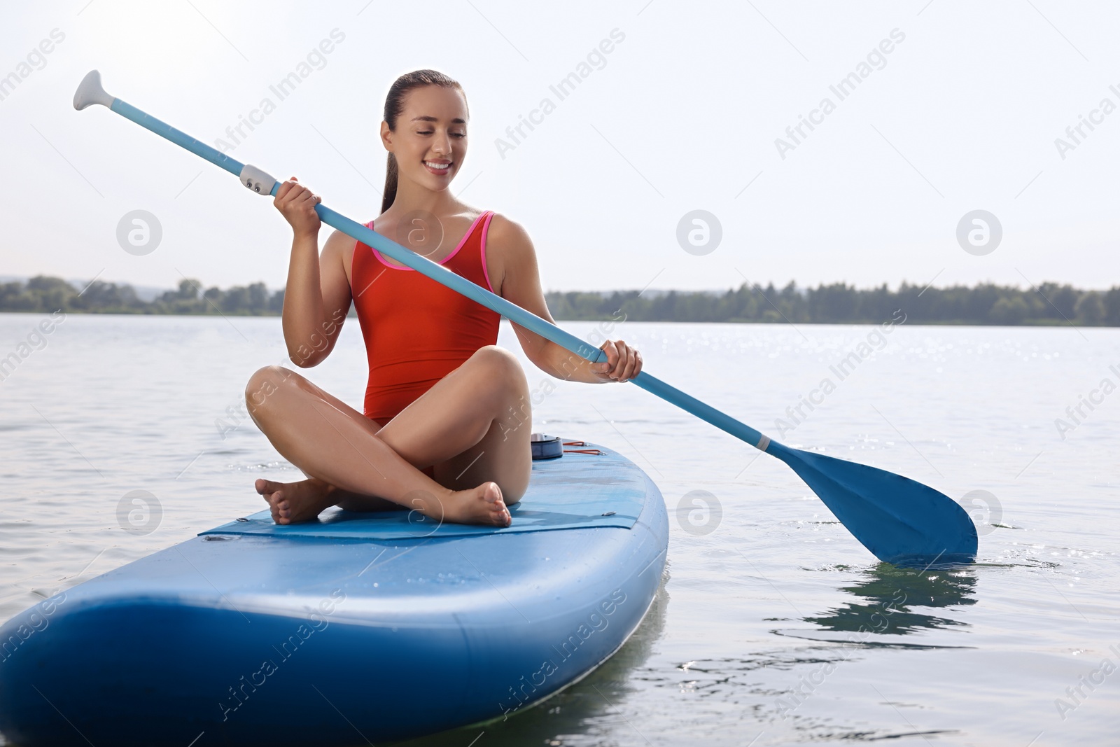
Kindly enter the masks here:
M 479 732 L 486 731 L 487 747 L 510 745 L 562 744 L 597 745 L 603 734 L 609 731 L 606 723 L 612 713 L 617 713 L 626 698 L 636 692 L 631 684 L 633 673 L 644 666 L 653 652 L 653 644 L 661 638 L 665 628 L 669 609 L 669 569 L 661 578 L 661 587 L 653 598 L 650 611 L 642 624 L 614 656 L 608 659 L 591 674 L 549 698 L 538 706 L 513 716 L 507 721 L 501 719 L 488 723 L 452 729 L 430 737 L 420 737 L 396 747 L 464 747 Z

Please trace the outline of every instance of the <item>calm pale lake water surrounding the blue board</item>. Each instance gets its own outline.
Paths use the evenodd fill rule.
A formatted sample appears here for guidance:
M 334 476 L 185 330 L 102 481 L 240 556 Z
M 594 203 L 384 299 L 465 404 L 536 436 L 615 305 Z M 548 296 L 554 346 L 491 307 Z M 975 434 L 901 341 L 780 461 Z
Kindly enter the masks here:
M 0 356 L 41 318 L 0 315 Z M 830 379 L 781 440 L 962 498 L 983 522 L 977 564 L 878 564 L 781 463 L 635 386 L 557 384 L 535 430 L 622 451 L 665 496 L 657 601 L 557 698 L 410 745 L 466 747 L 484 730 L 479 747 L 1117 744 L 1120 673 L 1101 663 L 1120 666 L 1120 392 L 1077 422 L 1065 411 L 1120 384 L 1120 330 L 628 323 L 615 336 L 775 438 L 775 418 Z M 252 371 L 283 358 L 279 319 L 72 315 L 44 339 L 0 383 L 0 619 L 263 507 L 256 477 L 299 477 L 240 410 Z M 507 327 L 501 342 L 516 349 Z M 850 352 L 841 380 L 830 366 Z M 357 326 L 309 373 L 361 407 Z M 146 535 L 118 516 L 136 489 L 162 512 Z M 721 511 L 678 513 L 692 491 Z

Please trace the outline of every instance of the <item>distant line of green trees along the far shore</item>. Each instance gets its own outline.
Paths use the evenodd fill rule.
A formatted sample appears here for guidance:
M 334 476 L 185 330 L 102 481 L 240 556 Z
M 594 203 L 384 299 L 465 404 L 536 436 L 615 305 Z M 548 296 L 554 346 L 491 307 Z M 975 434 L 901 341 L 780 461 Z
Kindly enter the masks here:
M 718 292 L 632 291 L 545 293 L 557 319 L 612 319 L 625 314 L 633 321 L 879 323 L 902 309 L 909 324 L 1120 326 L 1120 287 L 1079 290 L 1046 282 L 1020 290 L 981 283 L 976 287 L 922 288 L 903 283 L 858 289 L 847 283 L 763 288 L 744 283 Z M 226 314 L 274 316 L 283 309 L 283 290 L 264 283 L 203 290 L 184 279 L 151 301 L 129 284 L 95 280 L 84 290 L 60 278 L 37 277 L 0 283 L 0 311 L 95 314 Z M 353 314 L 353 311 L 352 311 Z

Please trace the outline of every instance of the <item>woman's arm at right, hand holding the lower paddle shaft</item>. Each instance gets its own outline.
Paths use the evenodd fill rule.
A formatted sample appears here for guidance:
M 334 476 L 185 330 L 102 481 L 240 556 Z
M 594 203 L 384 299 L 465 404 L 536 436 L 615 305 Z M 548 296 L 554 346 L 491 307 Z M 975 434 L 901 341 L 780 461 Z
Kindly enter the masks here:
M 556 324 L 544 302 L 536 252 L 525 230 L 508 218 L 495 215 L 491 220 L 486 249 L 487 264 L 496 270 L 497 276 L 491 276 L 492 281 L 496 281 L 493 282 L 494 290 L 502 298 Z M 642 354 L 620 339 L 604 343 L 601 347 L 607 361 L 592 364 L 517 324 L 513 325 L 513 330 L 529 360 L 557 379 L 603 384 L 628 381 L 642 371 Z

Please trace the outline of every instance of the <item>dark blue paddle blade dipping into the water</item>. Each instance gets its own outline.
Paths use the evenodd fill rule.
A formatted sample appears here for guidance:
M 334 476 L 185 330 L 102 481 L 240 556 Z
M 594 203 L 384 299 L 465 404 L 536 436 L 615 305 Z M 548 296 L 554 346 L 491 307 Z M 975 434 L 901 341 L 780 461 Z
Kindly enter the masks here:
M 766 449 L 797 473 L 879 560 L 895 566 L 970 563 L 977 527 L 955 501 L 885 469 L 791 449 Z

